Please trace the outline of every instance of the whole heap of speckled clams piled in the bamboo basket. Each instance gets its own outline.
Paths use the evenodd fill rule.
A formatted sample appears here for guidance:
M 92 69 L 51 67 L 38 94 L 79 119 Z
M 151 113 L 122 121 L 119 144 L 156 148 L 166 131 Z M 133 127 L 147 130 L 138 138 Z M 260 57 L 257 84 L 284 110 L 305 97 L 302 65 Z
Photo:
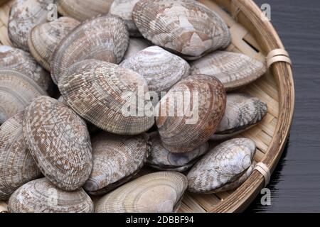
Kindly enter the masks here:
M 239 133 L 267 105 L 235 90 L 265 62 L 225 51 L 228 26 L 198 1 L 16 0 L 9 38 L 0 200 L 10 212 L 172 212 L 186 191 L 236 189 L 252 173 L 255 142 Z

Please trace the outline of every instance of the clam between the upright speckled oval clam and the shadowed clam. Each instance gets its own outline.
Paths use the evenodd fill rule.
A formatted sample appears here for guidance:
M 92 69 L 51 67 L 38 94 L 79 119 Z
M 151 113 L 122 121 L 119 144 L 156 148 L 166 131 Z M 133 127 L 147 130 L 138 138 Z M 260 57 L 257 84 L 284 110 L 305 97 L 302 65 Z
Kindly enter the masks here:
M 92 172 L 83 188 L 90 194 L 105 194 L 142 168 L 149 155 L 149 145 L 142 135 L 117 136 L 104 132 L 92 140 L 92 155 Z

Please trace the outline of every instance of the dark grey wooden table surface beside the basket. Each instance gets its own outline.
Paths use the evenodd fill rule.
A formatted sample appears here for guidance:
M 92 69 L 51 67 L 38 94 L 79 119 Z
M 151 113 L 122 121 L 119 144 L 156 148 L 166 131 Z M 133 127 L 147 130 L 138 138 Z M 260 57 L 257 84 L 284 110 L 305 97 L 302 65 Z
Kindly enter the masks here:
M 272 24 L 294 66 L 295 113 L 286 150 L 270 185 L 248 212 L 320 212 L 320 1 L 255 0 L 270 4 Z

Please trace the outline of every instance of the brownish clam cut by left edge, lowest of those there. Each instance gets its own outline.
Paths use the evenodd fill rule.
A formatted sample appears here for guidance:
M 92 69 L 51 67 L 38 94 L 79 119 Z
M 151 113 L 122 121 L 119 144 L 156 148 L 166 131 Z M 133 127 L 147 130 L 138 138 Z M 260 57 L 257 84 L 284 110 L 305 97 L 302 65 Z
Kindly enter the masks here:
M 18 187 L 41 176 L 22 133 L 23 111 L 0 126 L 0 199 L 9 199 Z

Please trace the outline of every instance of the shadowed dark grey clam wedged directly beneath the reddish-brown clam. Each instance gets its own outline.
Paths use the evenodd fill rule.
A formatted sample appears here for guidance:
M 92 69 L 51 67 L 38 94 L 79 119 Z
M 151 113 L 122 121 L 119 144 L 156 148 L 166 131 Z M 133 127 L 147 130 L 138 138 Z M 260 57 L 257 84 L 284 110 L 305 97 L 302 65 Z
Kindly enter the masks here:
M 150 137 L 151 152 L 146 163 L 156 170 L 184 172 L 192 167 L 198 157 L 204 155 L 209 149 L 209 144 L 206 142 L 187 153 L 171 153 L 161 144 L 158 133 L 151 133 Z

